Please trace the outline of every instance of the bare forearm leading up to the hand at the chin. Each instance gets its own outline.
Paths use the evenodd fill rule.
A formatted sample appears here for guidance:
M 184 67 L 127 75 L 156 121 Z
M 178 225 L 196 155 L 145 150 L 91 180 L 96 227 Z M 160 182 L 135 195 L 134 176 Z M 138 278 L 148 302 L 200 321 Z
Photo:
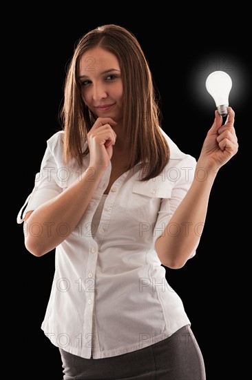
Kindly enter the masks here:
M 90 170 L 94 172 L 90 180 Z M 87 170 L 70 187 L 32 212 L 24 222 L 25 247 L 43 256 L 76 228 L 101 180 L 103 171 Z

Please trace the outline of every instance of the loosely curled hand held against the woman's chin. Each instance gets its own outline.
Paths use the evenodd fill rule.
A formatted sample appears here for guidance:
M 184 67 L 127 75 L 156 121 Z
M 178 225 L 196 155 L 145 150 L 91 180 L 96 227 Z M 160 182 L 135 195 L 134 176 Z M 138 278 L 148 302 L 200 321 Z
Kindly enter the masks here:
M 90 167 L 106 169 L 113 154 L 116 133 L 113 130 L 116 122 L 111 117 L 98 117 L 92 129 L 87 133 L 90 149 Z

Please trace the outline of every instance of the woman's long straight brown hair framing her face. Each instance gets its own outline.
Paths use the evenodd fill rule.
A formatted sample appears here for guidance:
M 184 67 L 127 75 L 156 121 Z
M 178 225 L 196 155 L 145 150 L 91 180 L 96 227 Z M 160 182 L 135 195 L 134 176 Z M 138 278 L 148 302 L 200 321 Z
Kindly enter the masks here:
M 103 25 L 87 32 L 78 41 L 67 68 L 64 103 L 60 117 L 63 122 L 65 162 L 75 158 L 82 165 L 87 133 L 92 128 L 94 115 L 81 96 L 78 82 L 79 61 L 83 53 L 96 46 L 114 54 L 120 64 L 123 81 L 123 128 L 132 169 L 142 162 L 144 175 L 149 180 L 160 174 L 169 161 L 169 146 L 160 131 L 161 113 L 147 59 L 136 37 L 129 30 L 115 24 Z

